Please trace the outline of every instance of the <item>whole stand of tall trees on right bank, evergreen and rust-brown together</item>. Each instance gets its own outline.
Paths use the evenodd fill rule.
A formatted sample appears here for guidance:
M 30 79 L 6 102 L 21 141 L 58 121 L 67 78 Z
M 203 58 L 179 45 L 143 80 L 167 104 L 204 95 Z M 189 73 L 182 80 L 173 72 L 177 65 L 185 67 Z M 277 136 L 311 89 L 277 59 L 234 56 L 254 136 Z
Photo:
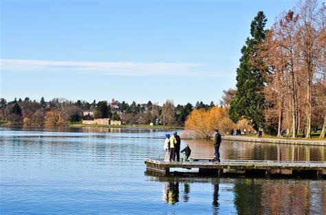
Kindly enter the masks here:
M 294 138 L 299 131 L 310 138 L 313 127 L 323 127 L 325 138 L 325 4 L 298 1 L 271 29 L 266 22 L 258 12 L 241 49 L 237 88 L 224 92 L 230 118 L 278 136 L 289 129 Z

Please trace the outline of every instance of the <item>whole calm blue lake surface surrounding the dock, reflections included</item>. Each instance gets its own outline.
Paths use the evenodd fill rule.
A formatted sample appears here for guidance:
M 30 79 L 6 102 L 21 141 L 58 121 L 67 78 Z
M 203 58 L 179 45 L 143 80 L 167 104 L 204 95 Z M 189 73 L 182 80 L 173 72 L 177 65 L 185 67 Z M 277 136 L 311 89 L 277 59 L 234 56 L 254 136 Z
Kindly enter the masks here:
M 0 214 L 326 214 L 325 179 L 155 177 L 152 129 L 0 127 Z M 181 136 L 182 131 L 180 132 Z M 192 157 L 211 142 L 182 140 Z M 221 159 L 326 160 L 326 147 L 223 141 Z

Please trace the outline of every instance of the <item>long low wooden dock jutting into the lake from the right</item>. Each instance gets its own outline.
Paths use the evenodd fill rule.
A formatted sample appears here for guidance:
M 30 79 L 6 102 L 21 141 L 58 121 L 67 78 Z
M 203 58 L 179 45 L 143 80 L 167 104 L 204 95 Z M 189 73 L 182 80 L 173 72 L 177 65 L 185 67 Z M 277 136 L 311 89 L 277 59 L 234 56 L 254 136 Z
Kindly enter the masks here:
M 223 174 L 263 174 L 270 175 L 314 175 L 326 176 L 326 162 L 271 161 L 271 160 L 222 160 L 220 163 L 196 159 L 194 162 L 164 162 L 146 159 L 146 170 L 162 175 L 170 175 L 173 168 L 198 168 L 198 173 Z

